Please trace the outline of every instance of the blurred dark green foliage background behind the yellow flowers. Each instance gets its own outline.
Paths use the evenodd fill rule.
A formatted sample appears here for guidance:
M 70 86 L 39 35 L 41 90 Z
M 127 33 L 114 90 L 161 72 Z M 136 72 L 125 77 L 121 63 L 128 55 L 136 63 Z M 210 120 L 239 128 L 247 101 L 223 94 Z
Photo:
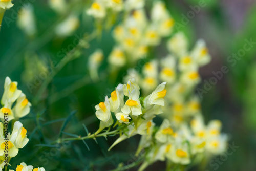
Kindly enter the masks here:
M 31 92 L 27 83 L 33 82 L 41 72 L 45 72 L 44 68 L 50 66 L 51 61 L 59 62 L 61 58 L 57 53 L 72 44 L 75 36 L 55 36 L 53 27 L 61 20 L 59 15 L 49 8 L 47 1 L 30 1 L 34 7 L 37 34 L 35 38 L 27 37 L 17 28 L 15 19 L 18 9 L 26 2 L 28 1 L 13 1 L 14 7 L 5 13 L 5 17 L 11 19 L 10 23 L 7 24 L 4 18 L 0 32 L 0 94 L 3 93 L 5 77 L 9 76 L 13 81 L 18 81 L 18 88 L 23 90 L 34 104 L 31 113 L 21 120 L 28 130 L 30 141 L 12 159 L 13 165 L 26 162 L 29 165 L 45 167 L 47 170 L 110 170 L 116 168 L 120 162 L 126 164 L 137 160 L 134 153 L 139 136 L 118 144 L 110 152 L 107 149 L 116 137 L 110 137 L 108 141 L 97 138 L 98 144 L 94 140 L 87 141 L 90 151 L 80 141 L 72 142 L 72 145 L 64 144 L 59 148 L 37 146 L 57 140 L 63 120 L 74 110 L 77 112 L 69 121 L 65 132 L 84 136 L 86 132 L 82 124 L 87 125 L 89 132 L 97 130 L 99 121 L 95 117 L 94 106 L 122 82 L 127 68 L 120 70 L 116 80 L 109 77 L 97 82 L 86 79 L 88 56 L 99 48 L 106 57 L 114 46 L 112 30 L 106 30 L 102 33 L 102 38 L 91 41 L 90 47 L 83 49 L 79 58 L 69 61 L 56 74 L 47 91 L 40 96 L 40 101 L 37 101 L 40 86 Z M 229 142 L 239 146 L 217 170 L 256 170 L 256 45 L 246 51 L 235 64 L 228 61 L 230 55 L 244 48 L 246 39 L 256 41 L 256 1 L 204 2 L 206 5 L 200 7 L 198 12 L 194 11 L 195 16 L 189 19 L 191 11 L 195 6 L 198 7 L 198 1 L 165 1 L 176 20 L 175 30 L 185 32 L 191 47 L 199 38 L 206 41 L 212 61 L 200 69 L 202 80 L 209 80 L 214 76 L 212 72 L 220 71 L 222 66 L 229 69 L 229 72 L 203 95 L 202 100 L 206 122 L 220 119 L 223 122 L 223 132 L 230 136 Z M 91 2 L 85 1 L 83 4 L 84 6 L 76 9 L 78 14 L 88 8 Z M 79 17 L 82 22 L 76 34 L 91 33 L 94 28 L 93 19 L 84 15 Z M 187 21 L 187 24 L 177 27 L 177 22 L 182 21 L 183 24 Z M 159 58 L 166 53 L 164 45 L 161 45 L 155 48 L 150 56 Z M 100 76 L 105 75 L 107 68 L 104 59 Z M 49 76 L 49 73 L 45 73 Z M 77 81 L 78 83 L 75 83 Z M 199 85 L 199 88 L 203 87 L 204 82 Z M 55 122 L 49 123 L 50 120 Z M 164 170 L 164 167 L 163 162 L 157 162 L 146 170 Z M 208 170 L 214 168 L 207 165 Z

